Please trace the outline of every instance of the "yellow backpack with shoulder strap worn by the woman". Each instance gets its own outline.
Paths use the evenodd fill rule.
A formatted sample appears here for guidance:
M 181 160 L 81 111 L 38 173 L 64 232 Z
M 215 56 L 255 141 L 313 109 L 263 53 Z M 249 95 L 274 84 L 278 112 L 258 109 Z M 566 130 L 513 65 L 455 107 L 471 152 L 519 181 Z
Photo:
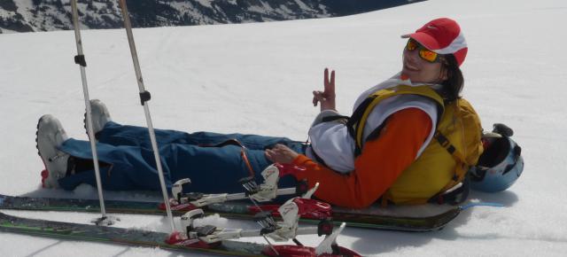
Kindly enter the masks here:
M 429 86 L 399 85 L 370 95 L 367 106 L 363 106 L 363 112 L 358 114 L 360 117 L 351 121 L 351 133 L 357 149 L 355 152 L 360 153 L 362 149 L 364 125 L 373 108 L 388 97 L 404 94 L 428 97 L 435 101 L 439 105 L 440 119 L 431 142 L 416 161 L 402 172 L 382 199 L 383 203 L 423 204 L 461 183 L 469 167 L 476 165 L 483 152 L 482 127 L 478 114 L 465 99 L 445 103 Z

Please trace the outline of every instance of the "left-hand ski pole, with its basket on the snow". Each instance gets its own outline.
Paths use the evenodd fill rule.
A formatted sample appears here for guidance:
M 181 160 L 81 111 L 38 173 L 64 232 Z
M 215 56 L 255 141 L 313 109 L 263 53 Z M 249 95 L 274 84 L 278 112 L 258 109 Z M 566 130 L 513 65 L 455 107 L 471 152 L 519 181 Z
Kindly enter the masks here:
M 73 12 L 73 27 L 74 27 L 74 38 L 77 44 L 77 55 L 74 57 L 74 62 L 79 65 L 81 69 L 81 79 L 82 79 L 82 91 L 85 98 L 86 106 L 86 123 L 87 123 L 87 133 L 89 134 L 90 150 L 92 152 L 92 160 L 95 165 L 95 176 L 97 177 L 97 191 L 98 199 L 100 201 L 100 212 L 102 217 L 93 221 L 97 224 L 112 225 L 113 219 L 109 219 L 106 216 L 105 210 L 105 199 L 103 199 L 103 186 L 100 182 L 100 168 L 98 167 L 98 155 L 97 155 L 97 144 L 95 142 L 95 133 L 92 128 L 92 115 L 90 113 L 90 99 L 89 99 L 89 86 L 87 85 L 87 73 L 85 72 L 85 67 L 87 62 L 85 56 L 82 52 L 82 39 L 81 39 L 81 29 L 79 28 L 79 12 L 77 11 L 77 0 L 71 0 L 71 11 Z

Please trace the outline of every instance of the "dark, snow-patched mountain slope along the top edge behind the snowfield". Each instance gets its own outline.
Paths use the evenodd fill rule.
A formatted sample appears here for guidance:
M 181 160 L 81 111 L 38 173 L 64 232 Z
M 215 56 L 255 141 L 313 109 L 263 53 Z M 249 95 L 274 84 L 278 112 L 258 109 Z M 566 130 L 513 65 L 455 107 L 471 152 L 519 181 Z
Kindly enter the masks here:
M 247 23 L 311 19 L 371 12 L 412 0 L 129 0 L 134 27 Z M 118 0 L 79 0 L 81 22 L 89 28 L 118 28 Z M 72 28 L 69 0 L 2 0 L 0 31 Z

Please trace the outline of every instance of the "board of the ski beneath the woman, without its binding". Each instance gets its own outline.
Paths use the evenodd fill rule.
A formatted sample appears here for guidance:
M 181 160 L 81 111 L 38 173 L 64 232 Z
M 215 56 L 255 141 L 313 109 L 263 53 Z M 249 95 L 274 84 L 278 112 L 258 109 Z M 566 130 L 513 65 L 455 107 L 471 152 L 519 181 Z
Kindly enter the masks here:
M 114 214 L 160 214 L 161 203 L 143 201 L 105 200 L 106 212 Z M 260 205 L 263 210 L 274 210 L 276 205 Z M 228 201 L 202 207 L 206 213 L 217 213 L 226 218 L 252 219 L 258 213 L 257 206 L 245 201 Z M 94 199 L 56 199 L 0 195 L 0 209 L 58 211 L 58 212 L 100 212 L 98 200 Z M 443 229 L 462 211 L 461 206 L 451 206 L 440 214 L 423 217 L 408 217 L 384 214 L 379 207 L 353 210 L 333 207 L 334 222 L 346 222 L 346 226 L 376 230 L 397 230 L 423 232 Z M 187 210 L 173 210 L 175 215 L 183 215 Z M 300 222 L 316 223 L 316 219 L 302 217 Z

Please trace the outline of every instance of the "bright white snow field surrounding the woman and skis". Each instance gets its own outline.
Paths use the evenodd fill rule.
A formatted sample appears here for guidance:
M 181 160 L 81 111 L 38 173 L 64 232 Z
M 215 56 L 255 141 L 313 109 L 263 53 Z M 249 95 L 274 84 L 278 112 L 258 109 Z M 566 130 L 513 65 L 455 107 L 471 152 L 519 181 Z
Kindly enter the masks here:
M 18 1 L 17 1 L 18 2 Z M 23 3 L 23 2 L 20 2 Z M 25 4 L 23 4 L 25 5 Z M 24 7 L 19 5 L 19 8 Z M 424 22 L 457 19 L 470 51 L 462 66 L 464 96 L 484 127 L 515 128 L 524 175 L 509 191 L 473 192 L 474 207 L 445 230 L 408 234 L 347 228 L 341 245 L 365 256 L 562 256 L 567 251 L 564 113 L 567 90 L 567 4 L 562 0 L 430 0 L 335 19 L 136 29 L 136 48 L 156 128 L 307 137 L 317 113 L 311 91 L 322 69 L 337 70 L 338 109 L 400 70 L 400 35 Z M 123 30 L 83 31 L 89 93 L 114 121 L 144 126 L 144 110 Z M 35 125 L 44 113 L 69 136 L 82 128 L 81 77 L 72 31 L 0 35 L 0 193 L 96 199 L 96 190 L 43 190 Z M 107 199 L 159 199 L 158 194 L 105 191 Z M 6 211 L 57 221 L 89 222 L 97 214 Z M 164 217 L 117 214 L 119 227 L 167 231 Z M 218 222 L 255 228 L 252 222 Z M 262 242 L 261 239 L 247 239 Z M 303 236 L 307 245 L 319 238 Z M 160 249 L 34 238 L 2 233 L 4 256 L 171 256 Z M 187 254 L 189 256 L 189 254 Z M 193 255 L 191 255 L 193 256 Z

